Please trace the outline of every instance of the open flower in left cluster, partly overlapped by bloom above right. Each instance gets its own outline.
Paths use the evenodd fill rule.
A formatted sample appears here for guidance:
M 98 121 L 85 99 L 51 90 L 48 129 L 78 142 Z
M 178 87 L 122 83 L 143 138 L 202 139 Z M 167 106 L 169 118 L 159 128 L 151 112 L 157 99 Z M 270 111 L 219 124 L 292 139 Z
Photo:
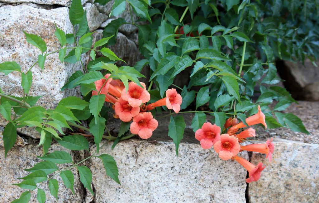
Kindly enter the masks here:
M 119 98 L 118 102 L 115 103 L 114 108 L 115 113 L 124 122 L 129 122 L 140 111 L 139 107 L 132 107 L 128 101 L 124 101 L 122 98 Z

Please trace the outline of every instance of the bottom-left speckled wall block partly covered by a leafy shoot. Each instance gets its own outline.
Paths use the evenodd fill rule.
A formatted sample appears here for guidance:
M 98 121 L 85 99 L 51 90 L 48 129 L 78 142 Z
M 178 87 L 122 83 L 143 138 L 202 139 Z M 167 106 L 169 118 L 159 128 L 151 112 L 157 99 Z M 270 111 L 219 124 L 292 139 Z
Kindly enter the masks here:
M 53 150 L 65 149 L 62 148 L 61 145 L 53 144 L 50 151 L 52 152 Z M 31 168 L 34 164 L 40 162 L 41 159 L 36 156 L 41 155 L 42 150 L 37 147 L 37 144 L 29 144 L 24 147 L 13 147 L 8 152 L 7 158 L 4 158 L 4 148 L 0 146 L 0 202 L 11 202 L 12 200 L 19 198 L 20 194 L 25 190 L 12 184 L 21 182 L 21 180 L 17 178 L 24 177 L 29 174 L 29 172 L 24 171 L 23 169 Z M 63 169 L 65 168 L 65 165 L 66 164 L 59 165 L 58 167 Z M 80 184 L 78 172 L 75 169 L 72 169 L 72 172 L 75 179 L 75 194 L 63 185 L 63 180 L 57 175 L 55 179 L 59 181 L 58 200 L 50 195 L 48 183 L 40 186 L 40 188 L 46 192 L 46 202 L 82 202 L 83 188 Z M 36 193 L 36 190 L 31 193 L 31 202 L 37 202 Z

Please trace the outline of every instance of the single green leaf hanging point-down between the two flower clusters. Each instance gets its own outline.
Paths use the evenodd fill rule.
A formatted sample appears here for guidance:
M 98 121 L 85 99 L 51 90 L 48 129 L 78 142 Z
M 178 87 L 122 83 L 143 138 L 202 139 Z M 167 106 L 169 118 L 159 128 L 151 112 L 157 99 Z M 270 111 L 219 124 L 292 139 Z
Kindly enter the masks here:
M 181 115 L 175 117 L 171 116 L 171 120 L 168 125 L 168 136 L 172 138 L 175 143 L 176 156 L 178 156 L 178 146 L 180 141 L 183 139 L 185 127 L 185 121 Z

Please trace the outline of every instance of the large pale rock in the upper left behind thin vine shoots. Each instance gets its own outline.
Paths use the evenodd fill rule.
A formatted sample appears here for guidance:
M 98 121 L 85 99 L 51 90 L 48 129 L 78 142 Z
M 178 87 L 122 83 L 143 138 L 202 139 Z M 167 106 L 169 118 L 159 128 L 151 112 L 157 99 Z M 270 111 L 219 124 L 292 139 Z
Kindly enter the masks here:
M 55 23 L 66 33 L 71 33 L 72 26 L 68 13 L 67 7 L 52 10 L 33 8 L 25 4 L 0 7 L 0 62 L 15 61 L 20 64 L 22 71 L 26 71 L 37 61 L 37 55 L 41 54 L 41 51 L 26 42 L 22 30 L 40 35 L 47 44 L 48 53 L 58 50 L 60 45 L 54 35 Z M 80 63 L 63 64 L 59 61 L 57 53 L 50 54 L 47 56 L 44 70 L 38 65 L 33 67 L 33 83 L 29 95 L 42 96 L 38 105 L 45 108 L 55 107 L 62 98 L 78 94 L 76 89 L 60 90 L 71 74 L 79 69 Z M 7 94 L 21 97 L 23 92 L 20 73 L 14 71 L 7 76 L 0 73 L 0 87 Z M 4 125 L 3 120 L 0 124 Z M 38 134 L 34 132 L 22 131 L 38 138 Z

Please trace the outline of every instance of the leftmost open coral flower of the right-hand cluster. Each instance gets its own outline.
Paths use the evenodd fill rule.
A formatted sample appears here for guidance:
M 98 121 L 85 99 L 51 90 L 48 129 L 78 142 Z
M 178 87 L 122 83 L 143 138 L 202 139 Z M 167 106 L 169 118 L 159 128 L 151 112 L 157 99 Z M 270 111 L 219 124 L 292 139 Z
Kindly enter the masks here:
M 204 123 L 202 128 L 195 132 L 195 138 L 200 141 L 203 149 L 210 149 L 220 139 L 220 127 Z

